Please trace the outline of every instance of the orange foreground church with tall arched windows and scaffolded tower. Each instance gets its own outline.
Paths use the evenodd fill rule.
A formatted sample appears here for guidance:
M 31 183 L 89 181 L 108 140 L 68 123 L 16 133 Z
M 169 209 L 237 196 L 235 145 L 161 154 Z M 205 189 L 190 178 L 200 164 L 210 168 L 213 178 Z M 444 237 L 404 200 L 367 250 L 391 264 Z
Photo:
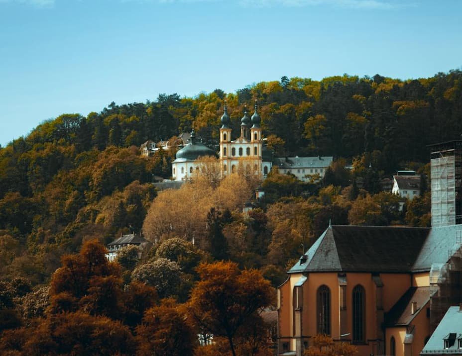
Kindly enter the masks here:
M 360 356 L 422 352 L 462 302 L 462 141 L 434 145 L 431 170 L 432 228 L 330 224 L 288 271 L 279 355 L 302 356 L 317 334 Z

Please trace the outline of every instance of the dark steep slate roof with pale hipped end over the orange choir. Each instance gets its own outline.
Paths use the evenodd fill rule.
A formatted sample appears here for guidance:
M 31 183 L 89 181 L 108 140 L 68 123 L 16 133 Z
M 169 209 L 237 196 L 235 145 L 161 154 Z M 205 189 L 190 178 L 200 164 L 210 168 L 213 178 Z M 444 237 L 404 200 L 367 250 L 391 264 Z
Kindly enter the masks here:
M 429 233 L 428 228 L 329 226 L 306 261 L 288 272 L 410 272 Z

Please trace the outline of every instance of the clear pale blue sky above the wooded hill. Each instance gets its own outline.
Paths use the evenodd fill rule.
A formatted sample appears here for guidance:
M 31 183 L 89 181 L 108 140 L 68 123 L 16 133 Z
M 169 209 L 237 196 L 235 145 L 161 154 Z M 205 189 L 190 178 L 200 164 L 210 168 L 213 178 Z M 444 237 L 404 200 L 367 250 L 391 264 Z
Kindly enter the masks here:
M 159 93 L 462 69 L 461 14 L 460 0 L 0 0 L 0 144 Z

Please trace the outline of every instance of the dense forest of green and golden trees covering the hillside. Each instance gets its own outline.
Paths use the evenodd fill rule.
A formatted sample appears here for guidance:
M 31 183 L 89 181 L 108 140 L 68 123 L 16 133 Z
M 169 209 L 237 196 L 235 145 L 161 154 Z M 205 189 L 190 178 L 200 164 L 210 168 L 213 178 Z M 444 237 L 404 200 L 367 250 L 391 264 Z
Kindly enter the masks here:
M 275 169 L 264 182 L 240 173 L 220 180 L 213 160 L 204 159 L 201 172 L 207 174 L 198 173 L 181 189 L 156 191 L 152 177 L 171 176 L 175 148 L 146 159 L 139 146 L 146 140 L 174 142 L 194 128 L 216 147 L 225 99 L 236 134 L 244 107 L 257 100 L 263 135 L 276 156 L 334 156 L 325 178 L 304 183 Z M 24 345 L 30 328 L 43 329 L 52 345 L 59 339 L 50 331 L 53 322 L 70 328 L 71 319 L 80 318 L 89 333 L 118 328 L 120 348 L 108 354 L 153 354 L 156 346 L 138 336 L 156 323 L 144 311 L 163 308 L 181 319 L 182 305 L 208 292 L 199 287 L 210 282 L 213 268 L 235 278 L 243 269 L 275 287 L 330 220 L 429 226 L 427 145 L 459 139 L 461 119 L 462 72 L 455 70 L 408 81 L 379 75 L 322 81 L 282 77 L 235 93 L 161 94 L 145 103 L 113 102 L 87 117 L 63 114 L 44 121 L 0 148 L 0 333 L 8 330 L 0 351 L 43 352 L 46 345 Z M 398 169 L 423 177 L 422 196 L 406 202 L 403 211 L 399 198 L 380 185 Z M 260 184 L 264 199 L 242 213 Z M 152 243 L 140 261 L 130 249 L 115 264 L 98 260 L 104 252 L 95 240 L 104 245 L 130 231 L 142 232 Z M 85 269 L 89 256 L 100 261 L 98 270 Z M 220 262 L 229 260 L 231 265 Z M 63 275 L 72 266 L 83 268 L 87 289 L 66 284 Z M 54 273 L 57 268 L 61 272 Z M 261 303 L 246 318 L 271 304 L 267 287 L 262 279 Z M 99 304 L 113 294 L 112 310 Z M 186 335 L 213 329 L 213 323 L 190 319 Z M 241 326 L 232 335 L 217 330 L 215 335 L 229 341 L 222 347 L 232 353 L 233 342 L 241 350 L 251 342 Z M 35 338 L 29 344 L 39 343 L 40 336 Z M 245 355 L 257 355 L 259 347 Z

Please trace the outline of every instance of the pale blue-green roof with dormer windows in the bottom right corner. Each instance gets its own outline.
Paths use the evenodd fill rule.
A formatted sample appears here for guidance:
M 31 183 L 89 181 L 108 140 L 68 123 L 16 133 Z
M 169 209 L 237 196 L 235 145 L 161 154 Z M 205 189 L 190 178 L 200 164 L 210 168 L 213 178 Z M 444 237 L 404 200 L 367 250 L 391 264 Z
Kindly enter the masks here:
M 449 349 L 444 349 L 444 338 L 456 334 L 456 340 Z M 458 348 L 458 338 L 462 338 L 462 312 L 459 307 L 450 307 L 433 332 L 420 355 L 462 355 Z

